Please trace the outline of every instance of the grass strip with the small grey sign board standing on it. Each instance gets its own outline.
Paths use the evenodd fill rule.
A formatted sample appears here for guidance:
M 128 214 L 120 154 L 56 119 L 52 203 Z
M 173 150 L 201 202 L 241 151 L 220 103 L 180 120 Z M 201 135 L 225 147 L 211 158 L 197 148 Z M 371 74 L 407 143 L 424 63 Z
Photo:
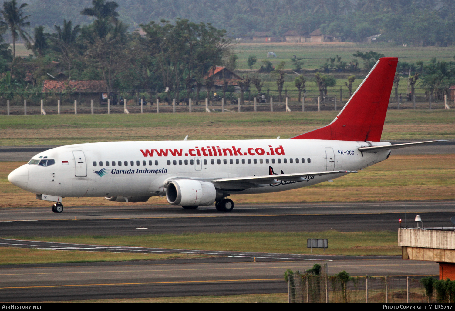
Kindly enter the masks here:
M 397 222 L 398 227 L 398 222 Z M 396 231 L 339 232 L 322 231 L 318 236 L 330 239 L 330 246 L 313 254 L 348 256 L 399 255 Z M 156 234 L 143 236 L 62 236 L 12 237 L 37 241 L 81 243 L 93 245 L 120 245 L 160 247 L 207 251 L 251 251 L 285 254 L 309 254 L 302 241 L 313 238 L 314 232 L 227 232 L 185 233 L 181 235 Z M 61 252 L 61 251 L 59 251 Z

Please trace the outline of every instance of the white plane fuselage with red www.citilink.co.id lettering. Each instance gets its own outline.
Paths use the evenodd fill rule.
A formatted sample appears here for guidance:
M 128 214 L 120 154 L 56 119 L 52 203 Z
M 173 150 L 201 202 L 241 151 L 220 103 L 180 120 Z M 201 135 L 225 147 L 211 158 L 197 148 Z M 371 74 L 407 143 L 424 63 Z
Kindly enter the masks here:
M 156 196 L 164 195 L 166 181 L 176 177 L 211 181 L 223 177 L 261 176 L 270 173 L 269 167 L 275 174 L 356 171 L 388 157 L 390 150 L 363 154 L 357 150 L 368 145 L 371 144 L 342 140 L 86 143 L 41 152 L 32 160 L 52 159 L 55 163 L 49 166 L 25 164 L 11 174 L 17 177 L 15 185 L 36 194 L 62 197 Z M 233 186 L 233 189 L 228 189 L 224 186 L 223 191 L 231 194 L 284 191 L 343 175 L 314 176 L 308 181 L 251 188 Z

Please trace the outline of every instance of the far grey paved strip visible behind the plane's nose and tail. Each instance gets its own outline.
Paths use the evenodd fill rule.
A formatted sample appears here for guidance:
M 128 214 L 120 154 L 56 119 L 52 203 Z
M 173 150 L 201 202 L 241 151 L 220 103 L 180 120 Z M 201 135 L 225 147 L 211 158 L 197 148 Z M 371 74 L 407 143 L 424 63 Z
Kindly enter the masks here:
M 422 140 L 384 140 L 392 144 L 402 144 Z M 42 151 L 58 146 L 5 146 L 0 147 L 1 161 L 29 161 L 32 156 Z M 392 155 L 420 155 L 420 154 L 453 154 L 455 153 L 455 140 L 437 142 L 430 145 L 395 149 Z

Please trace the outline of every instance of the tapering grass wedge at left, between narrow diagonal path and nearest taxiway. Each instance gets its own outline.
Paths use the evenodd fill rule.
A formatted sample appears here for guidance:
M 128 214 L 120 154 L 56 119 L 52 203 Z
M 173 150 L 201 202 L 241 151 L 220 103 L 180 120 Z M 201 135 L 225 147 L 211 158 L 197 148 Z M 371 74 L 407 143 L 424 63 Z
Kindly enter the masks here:
M 101 251 L 51 251 L 32 248 L 0 247 L 0 265 L 44 264 L 57 262 L 131 261 L 204 258 L 196 254 L 138 254 Z

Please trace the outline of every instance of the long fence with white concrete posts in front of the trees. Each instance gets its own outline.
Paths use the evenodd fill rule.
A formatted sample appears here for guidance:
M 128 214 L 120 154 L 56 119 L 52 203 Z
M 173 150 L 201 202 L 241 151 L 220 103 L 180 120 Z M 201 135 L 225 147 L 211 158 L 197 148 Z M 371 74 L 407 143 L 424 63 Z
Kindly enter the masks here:
M 65 96 L 49 93 L 22 94 L 10 100 L 0 98 L 0 114 L 36 115 L 36 114 L 111 114 L 111 113 L 179 113 L 179 112 L 242 112 L 242 111 L 320 111 L 341 110 L 349 100 L 349 92 L 342 89 L 329 89 L 320 95 L 317 89 L 302 92 L 283 90 L 281 97 L 278 90 L 265 92 L 244 92 L 243 100 L 239 92 L 223 94 L 213 91 L 201 92 L 199 98 L 185 97 L 172 99 L 172 95 L 155 94 L 135 90 L 124 92 L 123 97 L 112 100 L 101 94 L 71 93 Z M 450 109 L 455 108 L 454 94 L 433 96 L 424 90 L 416 89 L 415 95 L 404 93 L 407 89 L 394 90 L 389 98 L 389 109 Z M 403 91 L 403 93 L 400 93 Z M 195 96 L 195 94 L 189 94 Z M 344 97 L 346 96 L 346 97 Z

